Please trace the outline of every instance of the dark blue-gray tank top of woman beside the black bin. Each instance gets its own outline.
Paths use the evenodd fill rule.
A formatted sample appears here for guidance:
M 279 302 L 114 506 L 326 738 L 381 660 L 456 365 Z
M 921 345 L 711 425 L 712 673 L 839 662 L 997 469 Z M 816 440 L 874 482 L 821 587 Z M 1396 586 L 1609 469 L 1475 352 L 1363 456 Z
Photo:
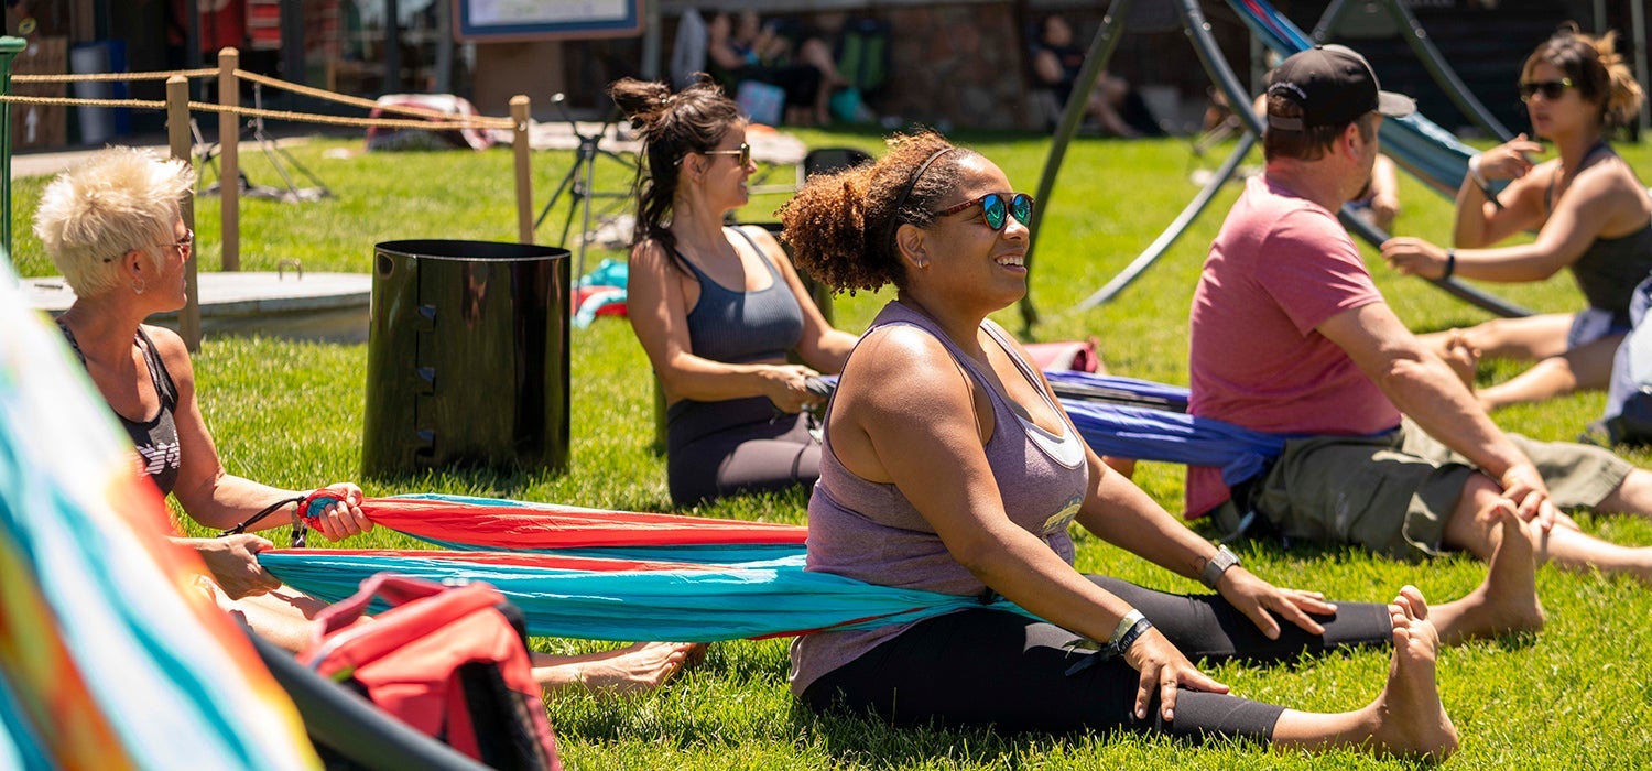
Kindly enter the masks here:
M 689 345 L 695 357 L 745 363 L 783 358 L 803 340 L 803 307 L 773 261 L 743 229 L 733 228 L 757 251 L 768 276 L 767 289 L 733 291 L 705 276 L 694 263 L 677 258 L 700 282 L 700 300 L 689 310 Z

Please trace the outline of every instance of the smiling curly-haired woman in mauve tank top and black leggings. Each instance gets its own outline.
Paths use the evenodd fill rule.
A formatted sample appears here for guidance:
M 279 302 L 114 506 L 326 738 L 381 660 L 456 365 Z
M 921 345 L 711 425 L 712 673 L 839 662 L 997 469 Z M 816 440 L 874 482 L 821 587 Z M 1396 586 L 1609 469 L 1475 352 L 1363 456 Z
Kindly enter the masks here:
M 895 287 L 826 411 L 806 570 L 981 601 L 798 637 L 793 693 L 816 710 L 895 725 L 1125 728 L 1449 754 L 1457 735 L 1434 683 L 1437 646 L 1510 626 L 1515 606 L 1541 616 L 1515 513 L 1488 512 L 1508 546 L 1487 583 L 1455 603 L 1429 608 L 1406 588 L 1388 606 L 1333 606 L 1251 575 L 1110 471 L 1021 345 L 986 319 L 1026 294 L 1032 206 L 980 154 L 919 134 L 872 165 L 814 177 L 781 208 L 806 271 L 839 291 Z M 1072 522 L 1218 594 L 1082 575 Z M 988 608 L 995 599 L 1047 622 Z M 1338 715 L 1231 697 L 1189 662 L 1388 644 L 1383 695 Z

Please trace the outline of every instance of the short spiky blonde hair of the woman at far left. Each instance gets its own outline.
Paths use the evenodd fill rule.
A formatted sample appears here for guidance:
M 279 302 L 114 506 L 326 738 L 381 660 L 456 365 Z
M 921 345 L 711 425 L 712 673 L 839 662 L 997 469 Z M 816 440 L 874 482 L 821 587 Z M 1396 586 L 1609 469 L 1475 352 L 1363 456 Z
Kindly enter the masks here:
M 177 158 L 111 147 L 46 185 L 35 234 L 74 294 L 94 297 L 121 281 L 121 256 L 172 243 L 172 226 L 195 187 L 195 170 Z

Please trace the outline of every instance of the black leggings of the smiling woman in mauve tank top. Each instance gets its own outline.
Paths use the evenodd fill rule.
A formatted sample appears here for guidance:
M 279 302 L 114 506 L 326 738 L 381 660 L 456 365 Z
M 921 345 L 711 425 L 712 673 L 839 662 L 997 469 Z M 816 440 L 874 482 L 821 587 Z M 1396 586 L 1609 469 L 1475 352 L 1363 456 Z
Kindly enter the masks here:
M 1087 576 L 1117 594 L 1191 659 L 1294 660 L 1345 646 L 1386 646 L 1388 606 L 1338 603 L 1320 616 L 1325 636 L 1280 622 L 1270 641 L 1216 594 L 1166 594 L 1107 576 Z M 995 726 L 999 731 L 1077 733 L 1125 728 L 1175 736 L 1237 736 L 1267 741 L 1284 707 L 1183 688 L 1176 718 L 1160 718 L 1158 693 L 1146 720 L 1133 715 L 1140 677 L 1122 659 L 1069 675 L 1089 650 L 1069 650 L 1075 634 L 1026 616 L 970 609 L 907 629 L 866 655 L 814 680 L 803 700 L 814 710 L 874 713 L 894 725 Z

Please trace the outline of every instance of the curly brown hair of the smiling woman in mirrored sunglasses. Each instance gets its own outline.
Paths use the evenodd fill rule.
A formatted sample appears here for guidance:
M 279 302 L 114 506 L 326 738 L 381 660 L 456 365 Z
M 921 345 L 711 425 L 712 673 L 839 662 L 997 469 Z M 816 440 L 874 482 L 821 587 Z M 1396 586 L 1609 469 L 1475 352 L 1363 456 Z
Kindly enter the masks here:
M 978 154 L 930 130 L 897 134 L 876 163 L 809 178 L 778 211 L 793 261 L 839 292 L 905 287 L 895 229 L 928 228 L 958 185 L 960 162 L 971 155 Z

